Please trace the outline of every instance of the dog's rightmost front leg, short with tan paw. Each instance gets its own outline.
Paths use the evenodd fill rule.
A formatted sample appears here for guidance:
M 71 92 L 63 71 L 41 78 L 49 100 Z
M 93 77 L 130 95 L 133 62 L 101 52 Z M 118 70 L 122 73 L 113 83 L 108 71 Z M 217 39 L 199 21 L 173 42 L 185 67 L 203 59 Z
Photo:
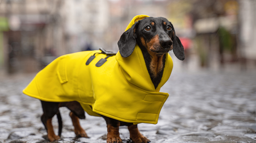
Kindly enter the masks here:
M 137 125 L 130 125 L 128 126 L 128 130 L 130 132 L 130 139 L 134 143 L 149 143 L 150 140 L 144 137 L 140 131 L 138 130 Z

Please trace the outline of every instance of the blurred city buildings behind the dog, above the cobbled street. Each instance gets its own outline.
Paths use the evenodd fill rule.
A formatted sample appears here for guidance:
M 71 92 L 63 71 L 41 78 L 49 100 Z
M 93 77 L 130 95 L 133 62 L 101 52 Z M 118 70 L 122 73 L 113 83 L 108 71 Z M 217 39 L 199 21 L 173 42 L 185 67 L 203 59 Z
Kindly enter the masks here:
M 1 0 L 0 69 L 37 72 L 64 54 L 117 52 L 127 24 L 140 14 L 172 22 L 184 63 L 255 66 L 255 9 L 256 0 Z

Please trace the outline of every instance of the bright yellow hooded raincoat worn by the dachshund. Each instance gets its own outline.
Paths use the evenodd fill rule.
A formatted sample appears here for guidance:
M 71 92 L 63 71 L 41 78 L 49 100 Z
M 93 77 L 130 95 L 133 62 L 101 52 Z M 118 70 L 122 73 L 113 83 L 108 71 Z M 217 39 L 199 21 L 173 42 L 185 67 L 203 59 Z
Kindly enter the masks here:
M 134 17 L 126 30 L 145 17 L 148 16 Z M 171 74 L 170 55 L 166 54 L 163 77 L 155 89 L 138 45 L 127 58 L 118 52 L 96 67 L 95 64 L 107 55 L 95 54 L 91 63 L 85 64 L 90 56 L 100 52 L 84 51 L 55 59 L 34 77 L 23 93 L 47 102 L 77 101 L 93 116 L 156 124 L 169 96 L 159 90 Z

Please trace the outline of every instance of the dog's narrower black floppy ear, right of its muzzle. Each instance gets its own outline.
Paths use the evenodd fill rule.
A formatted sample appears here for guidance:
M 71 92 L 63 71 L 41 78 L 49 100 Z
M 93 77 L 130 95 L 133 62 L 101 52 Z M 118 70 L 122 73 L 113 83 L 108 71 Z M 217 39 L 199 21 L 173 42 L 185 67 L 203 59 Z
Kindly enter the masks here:
M 170 23 L 171 24 L 171 23 Z M 172 50 L 174 55 L 179 59 L 179 60 L 184 60 L 185 59 L 185 53 L 184 53 L 184 48 L 183 45 L 181 44 L 181 40 L 179 39 L 178 36 L 175 34 L 175 30 L 173 25 L 171 24 L 172 30 L 173 30 L 173 35 L 172 35 Z

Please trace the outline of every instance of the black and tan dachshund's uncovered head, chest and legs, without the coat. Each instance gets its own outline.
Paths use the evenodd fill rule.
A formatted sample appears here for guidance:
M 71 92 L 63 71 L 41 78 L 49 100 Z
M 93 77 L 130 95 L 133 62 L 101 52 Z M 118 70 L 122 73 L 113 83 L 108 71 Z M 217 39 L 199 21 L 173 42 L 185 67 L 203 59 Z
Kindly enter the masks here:
M 178 59 L 184 60 L 184 49 L 181 41 L 176 36 L 173 25 L 165 18 L 146 17 L 142 20 L 135 22 L 135 24 L 132 25 L 130 29 L 128 29 L 121 35 L 120 40 L 118 41 L 118 47 L 121 56 L 124 58 L 129 57 L 133 53 L 136 44 L 139 46 L 142 52 L 147 72 L 155 89 L 157 89 L 161 80 L 163 80 L 162 77 L 166 70 L 166 56 L 168 55 L 168 52 L 170 50 L 173 50 L 175 56 Z M 165 80 L 167 81 L 168 79 Z M 85 130 L 79 124 L 79 118 L 85 118 L 84 109 L 79 102 L 46 102 L 42 99 L 41 102 L 43 107 L 43 115 L 41 117 L 41 120 L 47 130 L 49 141 L 58 140 L 61 136 L 62 120 L 59 112 L 60 107 L 67 107 L 71 110 L 70 117 L 74 125 L 74 132 L 76 136 L 88 138 Z M 92 108 L 92 106 L 90 107 Z M 59 136 L 54 134 L 51 123 L 51 119 L 55 114 L 57 115 L 59 121 Z M 123 125 L 128 126 L 130 138 L 134 143 L 150 142 L 139 132 L 136 123 L 134 124 L 133 122 L 119 121 L 117 119 L 107 117 L 106 115 L 101 116 L 107 122 L 107 143 L 122 143 L 122 140 L 119 137 L 119 126 Z

